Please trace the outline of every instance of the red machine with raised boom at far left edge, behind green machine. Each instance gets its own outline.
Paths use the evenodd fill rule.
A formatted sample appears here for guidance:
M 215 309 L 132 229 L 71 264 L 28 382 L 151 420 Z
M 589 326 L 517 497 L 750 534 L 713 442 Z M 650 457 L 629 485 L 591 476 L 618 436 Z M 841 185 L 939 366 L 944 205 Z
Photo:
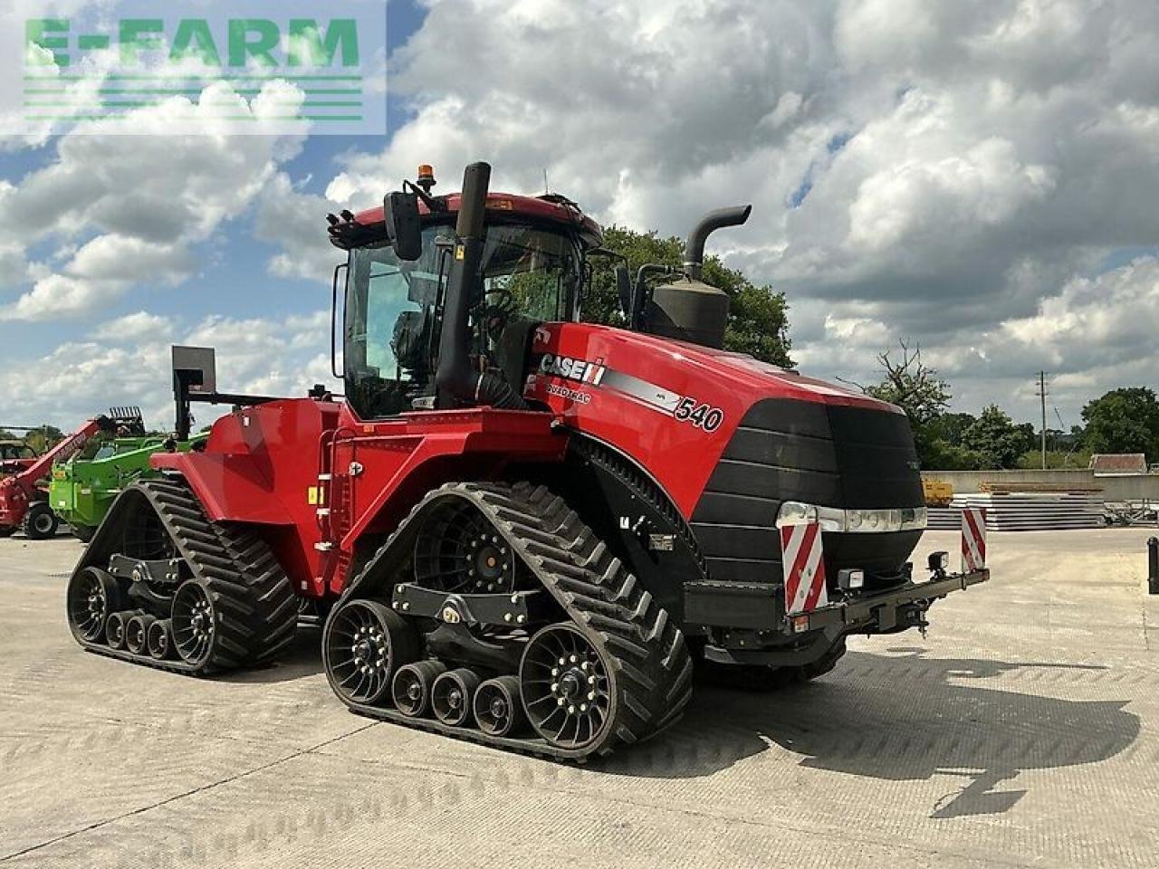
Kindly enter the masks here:
M 30 540 L 44 540 L 57 533 L 59 521 L 49 505 L 46 485 L 52 463 L 73 455 L 99 431 L 144 434 L 140 410 L 112 408 L 109 416 L 89 419 L 43 455 L 19 460 L 16 472 L 0 479 L 0 538 L 21 528 Z

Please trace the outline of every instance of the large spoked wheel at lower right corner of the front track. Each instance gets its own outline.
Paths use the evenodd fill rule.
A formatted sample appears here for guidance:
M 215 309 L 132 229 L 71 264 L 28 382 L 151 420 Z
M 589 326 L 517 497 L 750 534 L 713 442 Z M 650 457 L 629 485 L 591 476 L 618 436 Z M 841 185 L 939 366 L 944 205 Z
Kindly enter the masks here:
M 588 637 L 567 622 L 548 625 L 527 642 L 519 687 L 527 720 L 552 745 L 591 745 L 615 717 L 611 669 Z

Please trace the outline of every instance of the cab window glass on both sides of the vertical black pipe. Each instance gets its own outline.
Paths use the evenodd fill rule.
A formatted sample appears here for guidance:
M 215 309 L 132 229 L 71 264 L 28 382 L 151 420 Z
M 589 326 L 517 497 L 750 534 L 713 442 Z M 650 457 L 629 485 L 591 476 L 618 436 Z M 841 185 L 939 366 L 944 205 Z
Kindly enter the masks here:
M 343 358 L 348 400 L 364 419 L 430 406 L 452 236 L 449 226 L 428 227 L 414 262 L 400 261 L 386 243 L 350 251 Z M 571 319 L 581 262 L 570 235 L 488 227 L 471 316 L 480 370 L 522 382 L 522 338 L 535 323 Z

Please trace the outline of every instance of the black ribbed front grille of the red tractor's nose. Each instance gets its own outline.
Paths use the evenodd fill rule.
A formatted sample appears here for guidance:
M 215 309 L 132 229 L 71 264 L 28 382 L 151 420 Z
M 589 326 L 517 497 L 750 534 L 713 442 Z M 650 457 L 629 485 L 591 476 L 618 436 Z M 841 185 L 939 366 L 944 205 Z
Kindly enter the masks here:
M 692 514 L 713 579 L 780 582 L 777 513 L 786 501 L 845 509 L 923 503 L 909 421 L 860 407 L 766 399 L 749 409 Z M 862 568 L 870 586 L 895 580 L 920 532 L 824 538 L 831 583 Z

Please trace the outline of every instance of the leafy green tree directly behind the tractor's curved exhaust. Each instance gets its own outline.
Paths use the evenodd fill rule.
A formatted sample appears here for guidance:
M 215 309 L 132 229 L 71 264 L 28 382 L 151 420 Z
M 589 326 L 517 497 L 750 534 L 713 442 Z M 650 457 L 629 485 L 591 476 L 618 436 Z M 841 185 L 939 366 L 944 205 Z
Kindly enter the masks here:
M 637 233 L 611 226 L 604 229 L 604 247 L 627 260 L 633 279 L 636 270 L 647 263 L 679 268 L 684 262 L 684 242 L 676 236 L 661 239 L 655 232 Z M 591 263 L 592 283 L 583 299 L 583 319 L 622 326 L 624 315 L 615 289 L 617 262 L 610 257 L 592 257 Z M 757 286 L 744 273 L 729 269 L 715 256 L 706 257 L 702 277 L 705 283 L 728 293 L 731 300 L 724 348 L 792 367 L 785 293 L 774 292 L 771 286 Z

